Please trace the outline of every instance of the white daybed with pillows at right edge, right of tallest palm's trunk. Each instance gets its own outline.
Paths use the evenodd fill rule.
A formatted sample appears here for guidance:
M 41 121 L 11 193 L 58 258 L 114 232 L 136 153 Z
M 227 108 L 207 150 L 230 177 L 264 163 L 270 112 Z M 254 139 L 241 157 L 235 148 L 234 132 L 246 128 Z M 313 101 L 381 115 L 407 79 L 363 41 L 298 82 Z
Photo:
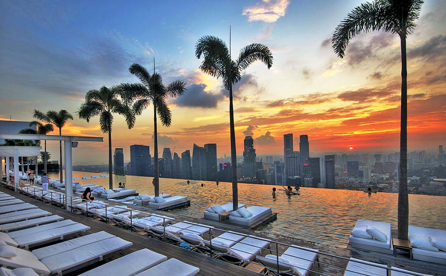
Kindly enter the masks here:
M 416 238 L 429 239 L 438 238 L 446 240 L 446 231 L 440 229 L 409 226 L 409 241 L 413 242 Z M 446 252 L 445 251 L 429 251 L 412 246 L 412 256 L 415 260 L 437 263 L 446 265 Z

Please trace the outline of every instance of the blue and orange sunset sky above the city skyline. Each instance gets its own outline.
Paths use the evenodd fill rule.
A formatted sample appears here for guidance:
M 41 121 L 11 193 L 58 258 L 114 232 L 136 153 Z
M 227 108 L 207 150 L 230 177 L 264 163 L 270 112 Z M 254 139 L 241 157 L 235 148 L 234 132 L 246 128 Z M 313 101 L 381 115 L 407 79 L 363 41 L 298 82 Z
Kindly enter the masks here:
M 90 89 L 138 82 L 136 62 L 153 68 L 167 84 L 187 82 L 184 96 L 169 101 L 171 127 L 159 125 L 159 151 L 181 153 L 193 143 L 217 143 L 229 155 L 227 92 L 220 79 L 203 74 L 194 56 L 197 40 L 229 41 L 232 56 L 250 43 L 270 47 L 270 70 L 258 62 L 234 89 L 237 153 L 244 135 L 254 136 L 259 155 L 282 154 L 283 134 L 307 134 L 312 154 L 397 151 L 399 147 L 400 48 L 397 35 L 357 36 L 338 58 L 331 47 L 336 25 L 363 1 L 21 1 L 0 2 L 0 119 L 33 120 L 32 110 L 65 109 L 75 119 L 63 134 L 102 136 L 99 119 L 74 114 Z M 446 2 L 423 5 L 407 39 L 409 150 L 446 144 Z M 127 129 L 113 122 L 112 143 L 151 146 L 149 107 Z M 55 133 L 56 134 L 56 133 Z M 57 159 L 56 143 L 49 143 Z M 75 163 L 106 162 L 107 143 L 80 143 Z

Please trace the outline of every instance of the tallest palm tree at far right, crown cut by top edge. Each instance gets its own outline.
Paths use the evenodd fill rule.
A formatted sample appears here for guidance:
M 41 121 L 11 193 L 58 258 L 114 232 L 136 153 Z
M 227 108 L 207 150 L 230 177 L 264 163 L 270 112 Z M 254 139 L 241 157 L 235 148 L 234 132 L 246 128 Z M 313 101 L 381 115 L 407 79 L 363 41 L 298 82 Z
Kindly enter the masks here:
M 407 193 L 407 60 L 406 37 L 415 29 L 423 0 L 375 0 L 355 7 L 336 27 L 332 43 L 344 56 L 350 39 L 360 33 L 385 31 L 397 34 L 401 44 L 401 122 L 399 145 L 398 238 L 408 238 L 409 197 Z

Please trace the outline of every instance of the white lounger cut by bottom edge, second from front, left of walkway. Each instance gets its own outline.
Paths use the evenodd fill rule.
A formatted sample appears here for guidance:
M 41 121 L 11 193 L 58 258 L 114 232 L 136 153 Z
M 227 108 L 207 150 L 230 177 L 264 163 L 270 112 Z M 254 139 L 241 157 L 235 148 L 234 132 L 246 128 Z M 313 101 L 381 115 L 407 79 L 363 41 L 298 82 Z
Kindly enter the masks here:
M 164 255 L 161 255 L 149 249 L 141 249 L 120 257 L 119 259 L 108 262 L 105 265 L 92 269 L 86 273 L 81 274 L 80 276 L 134 276 L 166 260 L 167 257 Z M 122 264 L 125 264 L 125 266 L 123 266 Z

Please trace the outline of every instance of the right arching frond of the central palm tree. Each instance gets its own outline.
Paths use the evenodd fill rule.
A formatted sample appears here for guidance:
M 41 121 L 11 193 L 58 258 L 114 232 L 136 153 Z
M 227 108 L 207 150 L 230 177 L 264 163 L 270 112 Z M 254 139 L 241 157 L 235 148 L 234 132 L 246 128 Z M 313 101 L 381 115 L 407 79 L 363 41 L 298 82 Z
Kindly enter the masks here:
M 239 70 L 243 71 L 257 60 L 265 63 L 268 69 L 273 66 L 273 53 L 271 53 L 271 50 L 268 48 L 268 46 L 259 43 L 253 43 L 244 47 L 242 50 L 240 50 L 240 54 L 238 55 L 236 64 Z

